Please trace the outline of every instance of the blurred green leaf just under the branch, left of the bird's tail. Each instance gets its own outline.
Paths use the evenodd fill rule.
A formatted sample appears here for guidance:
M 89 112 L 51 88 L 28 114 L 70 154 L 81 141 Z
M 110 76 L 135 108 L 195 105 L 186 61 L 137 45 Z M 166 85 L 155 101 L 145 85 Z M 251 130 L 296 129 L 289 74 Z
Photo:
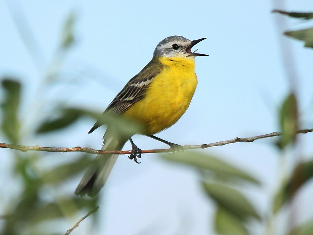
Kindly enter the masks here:
M 44 172 L 41 175 L 41 179 L 46 184 L 59 185 L 84 170 L 90 165 L 91 161 L 88 154 L 84 154 L 84 156 L 74 162 L 60 165 L 53 170 Z

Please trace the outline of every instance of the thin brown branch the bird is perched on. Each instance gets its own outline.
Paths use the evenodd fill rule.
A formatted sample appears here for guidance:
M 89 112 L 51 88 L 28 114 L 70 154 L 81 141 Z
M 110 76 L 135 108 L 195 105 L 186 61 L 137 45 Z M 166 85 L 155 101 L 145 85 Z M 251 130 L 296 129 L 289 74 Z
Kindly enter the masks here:
M 303 130 L 298 130 L 296 131 L 297 134 L 305 134 L 308 132 L 313 132 L 313 128 L 310 129 L 303 129 Z M 233 138 L 229 140 L 224 140 L 224 141 L 219 141 L 211 144 L 199 144 L 199 145 L 184 145 L 182 146 L 182 150 L 186 149 L 206 149 L 209 147 L 213 146 L 222 146 L 225 144 L 232 144 L 232 143 L 238 143 L 238 142 L 253 142 L 254 140 L 257 139 L 263 139 L 263 138 L 268 138 L 268 137 L 274 137 L 274 136 L 280 136 L 282 135 L 281 132 L 272 132 L 269 134 L 265 135 L 258 135 L 258 136 L 253 136 L 253 137 L 248 137 L 248 138 Z M 27 152 L 27 151 L 44 151 L 44 152 L 85 152 L 85 153 L 90 153 L 90 154 L 131 154 L 131 150 L 125 150 L 125 151 L 103 151 L 103 150 L 97 150 L 97 149 L 91 149 L 90 147 L 88 148 L 82 148 L 80 146 L 74 147 L 74 148 L 54 148 L 54 147 L 40 147 L 38 145 L 34 146 L 26 146 L 26 145 L 17 145 L 17 144 L 5 144 L 5 143 L 0 143 L 0 148 L 6 148 L 6 149 L 16 149 L 20 150 L 22 152 Z M 167 153 L 167 152 L 172 152 L 173 149 L 147 149 L 147 150 L 142 150 L 142 154 L 151 154 L 151 153 Z

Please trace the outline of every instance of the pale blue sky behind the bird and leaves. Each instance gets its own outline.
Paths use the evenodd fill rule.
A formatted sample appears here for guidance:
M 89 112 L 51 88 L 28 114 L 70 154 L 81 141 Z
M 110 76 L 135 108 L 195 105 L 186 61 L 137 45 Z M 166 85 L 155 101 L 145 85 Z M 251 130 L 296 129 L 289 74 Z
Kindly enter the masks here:
M 158 136 L 184 145 L 279 131 L 277 107 L 288 92 L 288 83 L 280 53 L 282 36 L 276 28 L 275 15 L 270 13 L 274 8 L 271 1 L 8 1 L 18 3 L 23 10 L 40 48 L 38 73 L 6 1 L 0 0 L 0 75 L 21 79 L 27 89 L 25 103 L 37 90 L 44 66 L 54 54 L 64 19 L 74 11 L 77 41 L 66 56 L 60 79 L 75 83 L 45 91 L 41 102 L 102 112 L 151 59 L 160 40 L 171 35 L 191 40 L 207 37 L 197 45 L 199 53 L 209 56 L 196 58 L 199 83 L 191 105 L 173 127 Z M 313 5 L 307 0 L 290 0 L 282 9 L 312 11 Z M 288 29 L 307 26 L 295 20 L 288 24 Z M 291 45 L 295 56 L 302 128 L 312 128 L 313 51 L 303 48 L 302 42 L 283 40 Z M 92 125 L 92 120 L 84 120 L 58 138 L 51 134 L 36 142 L 25 139 L 21 144 L 90 145 L 100 149 L 104 128 L 87 135 Z M 312 154 L 313 135 L 306 134 L 301 140 L 301 154 Z M 134 137 L 134 141 L 142 149 L 166 147 L 142 136 Z M 262 179 L 262 188 L 249 194 L 262 213 L 268 206 L 267 196 L 276 186 L 278 152 L 273 141 L 264 139 L 200 151 L 217 154 Z M 129 148 L 126 144 L 125 149 Z M 49 165 L 52 158 L 65 155 L 74 154 L 51 154 L 45 163 Z M 1 161 L 9 162 L 8 159 L 4 156 Z M 75 184 L 69 187 L 74 191 Z M 143 155 L 140 165 L 121 156 L 101 194 L 103 206 L 98 213 L 104 222 L 99 234 L 141 234 L 150 224 L 160 227 L 155 234 L 183 234 L 179 232 L 182 220 L 190 223 L 183 222 L 190 229 L 185 234 L 212 232 L 214 205 L 201 191 L 197 173 L 167 164 L 158 154 Z M 302 214 L 312 209 L 309 205 L 309 201 L 301 202 Z M 77 234 L 83 234 L 86 227 L 79 229 L 82 231 Z

